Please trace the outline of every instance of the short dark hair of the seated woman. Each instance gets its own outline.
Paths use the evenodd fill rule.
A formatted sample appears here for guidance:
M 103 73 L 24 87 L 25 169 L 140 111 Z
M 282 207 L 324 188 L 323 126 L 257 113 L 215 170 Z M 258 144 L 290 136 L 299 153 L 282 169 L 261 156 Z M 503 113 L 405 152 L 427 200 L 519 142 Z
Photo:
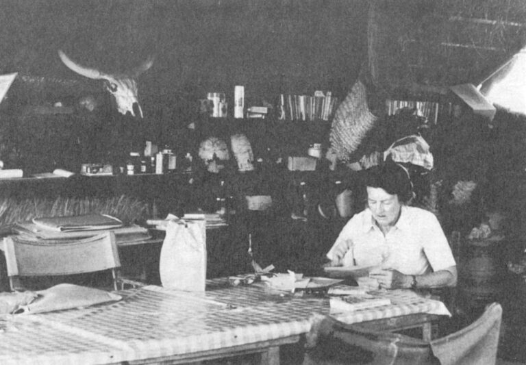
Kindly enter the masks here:
M 395 162 L 373 166 L 366 171 L 365 186 L 382 188 L 389 194 L 397 194 L 401 203 L 408 203 L 413 198 L 413 186 L 409 173 Z

